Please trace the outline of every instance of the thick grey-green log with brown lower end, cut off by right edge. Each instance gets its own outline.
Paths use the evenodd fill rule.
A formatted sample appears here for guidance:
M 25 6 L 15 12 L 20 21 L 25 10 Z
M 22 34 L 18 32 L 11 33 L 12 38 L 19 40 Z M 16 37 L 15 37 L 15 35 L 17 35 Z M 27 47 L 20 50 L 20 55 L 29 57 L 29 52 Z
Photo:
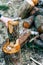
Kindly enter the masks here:
M 35 18 L 35 26 L 39 33 L 43 33 L 43 16 L 42 15 L 38 15 Z

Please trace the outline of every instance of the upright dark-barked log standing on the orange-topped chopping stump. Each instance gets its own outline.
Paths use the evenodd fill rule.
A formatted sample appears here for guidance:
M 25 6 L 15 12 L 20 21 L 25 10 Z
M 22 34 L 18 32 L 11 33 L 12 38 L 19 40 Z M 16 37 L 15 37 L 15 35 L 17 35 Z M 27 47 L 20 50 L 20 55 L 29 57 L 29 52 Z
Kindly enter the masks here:
M 8 21 L 8 35 L 10 41 L 19 37 L 19 21 Z

